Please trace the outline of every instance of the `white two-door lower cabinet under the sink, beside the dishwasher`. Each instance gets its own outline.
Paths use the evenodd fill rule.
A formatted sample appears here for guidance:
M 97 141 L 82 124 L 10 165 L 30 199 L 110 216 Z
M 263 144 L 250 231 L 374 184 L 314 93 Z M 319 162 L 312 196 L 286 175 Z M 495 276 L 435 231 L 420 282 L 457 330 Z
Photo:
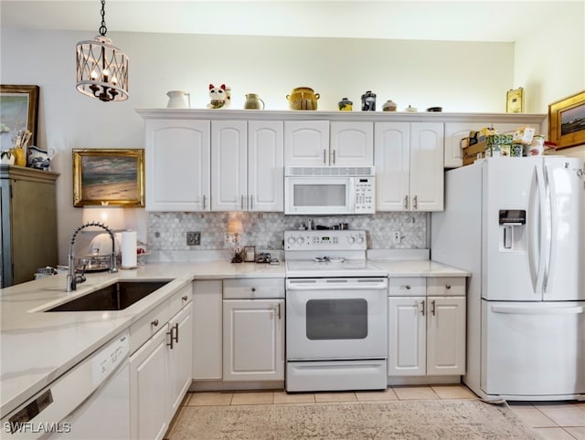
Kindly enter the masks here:
M 131 326 L 134 335 L 144 326 L 158 329 L 130 357 L 130 436 L 161 439 L 191 384 L 193 351 L 192 287 L 182 288 L 149 314 L 149 321 Z M 170 320 L 161 321 L 170 310 Z

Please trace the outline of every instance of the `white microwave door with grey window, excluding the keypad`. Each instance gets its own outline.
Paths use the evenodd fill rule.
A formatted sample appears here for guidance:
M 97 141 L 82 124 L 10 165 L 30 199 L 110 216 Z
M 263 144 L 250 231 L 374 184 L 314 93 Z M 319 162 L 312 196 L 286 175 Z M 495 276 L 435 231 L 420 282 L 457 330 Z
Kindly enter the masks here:
M 284 214 L 353 214 L 353 177 L 285 177 Z

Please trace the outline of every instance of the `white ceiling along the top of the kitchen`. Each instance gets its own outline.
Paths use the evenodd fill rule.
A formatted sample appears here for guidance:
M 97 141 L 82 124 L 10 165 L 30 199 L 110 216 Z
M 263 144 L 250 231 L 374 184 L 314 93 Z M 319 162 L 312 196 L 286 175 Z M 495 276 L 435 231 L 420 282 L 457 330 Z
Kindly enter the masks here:
M 107 0 L 109 32 L 514 42 L 569 3 L 558 0 Z M 0 0 L 3 27 L 98 34 L 100 0 Z

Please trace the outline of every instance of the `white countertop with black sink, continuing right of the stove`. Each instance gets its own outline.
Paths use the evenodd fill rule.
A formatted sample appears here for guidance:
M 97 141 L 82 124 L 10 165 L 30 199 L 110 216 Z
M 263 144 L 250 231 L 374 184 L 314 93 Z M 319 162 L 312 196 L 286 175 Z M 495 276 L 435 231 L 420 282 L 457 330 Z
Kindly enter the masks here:
M 429 260 L 375 261 L 390 276 L 452 277 L 469 273 Z M 112 340 L 145 313 L 194 279 L 284 278 L 285 265 L 227 261 L 149 263 L 117 274 L 88 274 L 66 293 L 66 274 L 0 289 L 0 417 Z M 120 311 L 53 312 L 43 310 L 111 284 L 117 279 L 174 280 Z

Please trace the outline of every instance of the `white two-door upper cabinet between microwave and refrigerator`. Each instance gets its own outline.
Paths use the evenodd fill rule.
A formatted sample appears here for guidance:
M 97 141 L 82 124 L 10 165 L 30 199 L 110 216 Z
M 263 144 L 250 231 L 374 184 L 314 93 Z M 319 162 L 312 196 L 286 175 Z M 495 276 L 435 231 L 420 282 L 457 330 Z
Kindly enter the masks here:
M 377 211 L 443 209 L 443 124 L 377 122 Z

